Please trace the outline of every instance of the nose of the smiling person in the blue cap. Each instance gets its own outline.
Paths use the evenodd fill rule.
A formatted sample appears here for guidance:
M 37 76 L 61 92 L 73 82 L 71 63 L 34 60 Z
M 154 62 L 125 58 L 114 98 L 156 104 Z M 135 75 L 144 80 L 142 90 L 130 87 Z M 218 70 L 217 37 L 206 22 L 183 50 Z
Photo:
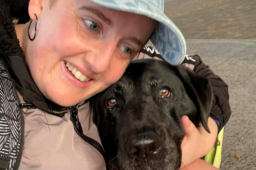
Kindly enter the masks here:
M 95 73 L 101 73 L 108 70 L 110 60 L 116 52 L 116 42 L 100 42 L 99 46 L 94 48 L 92 56 L 87 59 L 91 70 Z

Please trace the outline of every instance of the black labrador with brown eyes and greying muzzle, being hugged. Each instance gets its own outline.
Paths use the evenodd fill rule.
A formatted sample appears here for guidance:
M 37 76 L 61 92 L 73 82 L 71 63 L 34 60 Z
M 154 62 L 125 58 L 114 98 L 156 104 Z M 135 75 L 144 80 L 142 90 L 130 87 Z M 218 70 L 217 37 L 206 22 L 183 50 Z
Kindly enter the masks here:
M 181 116 L 208 131 L 212 90 L 183 66 L 144 59 L 129 64 L 114 85 L 93 98 L 110 170 L 177 170 L 184 129 Z

